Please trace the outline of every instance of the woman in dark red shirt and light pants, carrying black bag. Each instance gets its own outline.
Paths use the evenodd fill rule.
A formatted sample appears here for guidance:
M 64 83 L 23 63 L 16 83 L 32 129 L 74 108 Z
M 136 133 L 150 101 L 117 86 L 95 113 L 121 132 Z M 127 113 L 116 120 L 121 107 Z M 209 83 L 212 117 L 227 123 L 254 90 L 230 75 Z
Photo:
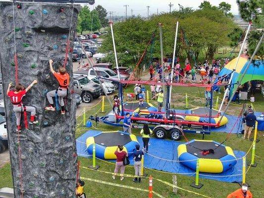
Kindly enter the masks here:
M 119 149 L 118 149 L 119 148 Z M 125 166 L 123 164 L 123 159 L 125 156 L 128 156 L 127 152 L 123 150 L 123 146 L 118 145 L 114 154 L 116 155 L 115 169 L 114 173 L 118 173 L 120 169 L 120 174 L 124 174 Z M 115 179 L 115 175 L 112 176 Z M 123 181 L 124 177 L 121 176 L 120 180 Z

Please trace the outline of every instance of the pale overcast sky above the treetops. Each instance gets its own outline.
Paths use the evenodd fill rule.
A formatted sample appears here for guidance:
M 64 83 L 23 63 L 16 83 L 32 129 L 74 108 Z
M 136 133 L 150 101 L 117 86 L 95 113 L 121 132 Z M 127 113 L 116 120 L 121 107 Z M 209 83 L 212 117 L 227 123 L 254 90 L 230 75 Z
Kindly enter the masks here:
M 107 12 L 113 11 L 114 16 L 124 16 L 125 15 L 125 7 L 127 6 L 127 15 L 131 16 L 131 9 L 133 9 L 133 15 L 140 14 L 141 16 L 147 16 L 148 8 L 149 14 L 157 13 L 158 12 L 168 12 L 169 11 L 169 3 L 173 4 L 171 10 L 179 10 L 179 5 L 184 7 L 193 7 L 197 9 L 201 2 L 204 0 L 95 0 L 94 5 L 89 5 L 91 9 L 96 7 L 97 5 L 102 5 L 106 8 Z M 212 5 L 218 6 L 218 4 L 224 0 L 208 0 L 211 2 Z M 238 6 L 236 4 L 236 0 L 228 0 L 229 4 L 231 4 L 231 12 L 233 14 L 238 14 Z

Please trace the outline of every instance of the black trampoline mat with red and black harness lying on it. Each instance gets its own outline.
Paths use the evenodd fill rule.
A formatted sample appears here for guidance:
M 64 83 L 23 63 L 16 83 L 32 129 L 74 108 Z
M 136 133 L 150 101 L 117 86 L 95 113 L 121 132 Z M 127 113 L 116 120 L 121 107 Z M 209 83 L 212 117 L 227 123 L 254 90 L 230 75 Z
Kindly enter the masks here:
M 196 147 L 196 148 L 193 148 Z M 190 145 L 186 145 L 187 147 L 187 152 L 199 157 L 199 158 L 205 158 L 205 159 L 220 159 L 221 157 L 227 155 L 226 149 L 224 146 L 220 146 L 218 148 L 216 148 L 218 145 L 214 142 L 203 142 L 203 141 L 195 141 L 190 143 Z M 207 154 L 207 155 L 203 155 L 202 154 L 202 150 L 199 150 L 197 148 L 200 148 L 202 150 L 206 150 L 206 149 L 214 149 L 214 154 Z M 194 154 L 196 153 L 196 154 Z

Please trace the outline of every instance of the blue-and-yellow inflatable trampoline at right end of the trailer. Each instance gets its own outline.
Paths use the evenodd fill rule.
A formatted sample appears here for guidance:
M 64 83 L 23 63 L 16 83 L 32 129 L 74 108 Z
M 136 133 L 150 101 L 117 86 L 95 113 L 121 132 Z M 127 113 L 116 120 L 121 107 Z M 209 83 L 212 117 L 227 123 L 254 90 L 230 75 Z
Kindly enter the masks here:
M 201 116 L 192 116 L 192 115 L 186 115 L 185 120 L 186 121 L 195 121 L 195 122 L 209 122 L 209 112 L 210 108 L 207 107 L 199 107 L 194 109 L 189 109 L 185 113 L 187 114 L 194 114 L 194 115 L 201 115 Z M 216 109 L 212 108 L 212 117 L 211 117 L 211 123 L 216 124 L 219 122 L 221 117 L 221 114 L 218 114 L 218 111 Z M 228 122 L 227 118 L 223 116 L 221 122 L 219 123 L 219 126 L 223 126 Z

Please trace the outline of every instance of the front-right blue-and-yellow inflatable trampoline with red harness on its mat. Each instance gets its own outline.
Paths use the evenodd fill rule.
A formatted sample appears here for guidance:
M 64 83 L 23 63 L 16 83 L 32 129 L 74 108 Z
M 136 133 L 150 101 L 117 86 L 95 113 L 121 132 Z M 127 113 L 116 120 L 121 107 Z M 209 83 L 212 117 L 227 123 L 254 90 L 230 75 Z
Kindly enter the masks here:
M 192 140 L 189 143 L 178 146 L 178 159 L 185 166 L 196 170 L 196 162 L 200 158 L 200 172 L 224 172 L 232 168 L 237 163 L 237 159 L 232 148 L 219 145 L 219 143 L 214 141 Z M 209 149 L 213 149 L 214 153 L 209 153 Z

